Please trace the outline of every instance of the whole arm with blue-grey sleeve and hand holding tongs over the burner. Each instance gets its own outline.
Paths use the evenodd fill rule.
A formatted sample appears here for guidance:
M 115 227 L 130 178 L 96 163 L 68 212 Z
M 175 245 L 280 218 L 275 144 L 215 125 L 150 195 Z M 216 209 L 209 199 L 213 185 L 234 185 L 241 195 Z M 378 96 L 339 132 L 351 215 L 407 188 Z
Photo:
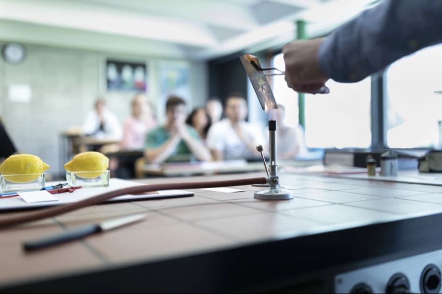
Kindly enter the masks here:
M 442 1 L 386 0 L 327 38 L 284 46 L 285 79 L 295 91 L 316 93 L 328 78 L 357 82 L 395 60 L 442 42 Z

